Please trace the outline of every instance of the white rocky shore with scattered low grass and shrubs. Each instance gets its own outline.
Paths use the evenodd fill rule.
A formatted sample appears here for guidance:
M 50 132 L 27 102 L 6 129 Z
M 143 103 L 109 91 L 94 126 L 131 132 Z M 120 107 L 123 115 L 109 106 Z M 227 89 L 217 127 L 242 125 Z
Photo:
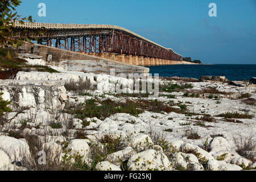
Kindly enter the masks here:
M 55 68 L 57 69 L 57 68 Z M 160 78 L 159 97 L 113 93 L 132 80 L 18 72 L 0 80 L 0 170 L 253 170 L 256 87 Z

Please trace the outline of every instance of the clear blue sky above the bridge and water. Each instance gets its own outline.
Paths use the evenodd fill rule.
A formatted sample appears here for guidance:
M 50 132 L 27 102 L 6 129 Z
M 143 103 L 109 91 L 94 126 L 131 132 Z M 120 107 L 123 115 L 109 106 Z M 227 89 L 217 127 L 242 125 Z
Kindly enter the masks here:
M 36 22 L 113 24 L 203 63 L 256 64 L 256 0 L 21 0 Z M 209 3 L 217 17 L 210 17 Z M 46 17 L 38 4 L 46 4 Z

